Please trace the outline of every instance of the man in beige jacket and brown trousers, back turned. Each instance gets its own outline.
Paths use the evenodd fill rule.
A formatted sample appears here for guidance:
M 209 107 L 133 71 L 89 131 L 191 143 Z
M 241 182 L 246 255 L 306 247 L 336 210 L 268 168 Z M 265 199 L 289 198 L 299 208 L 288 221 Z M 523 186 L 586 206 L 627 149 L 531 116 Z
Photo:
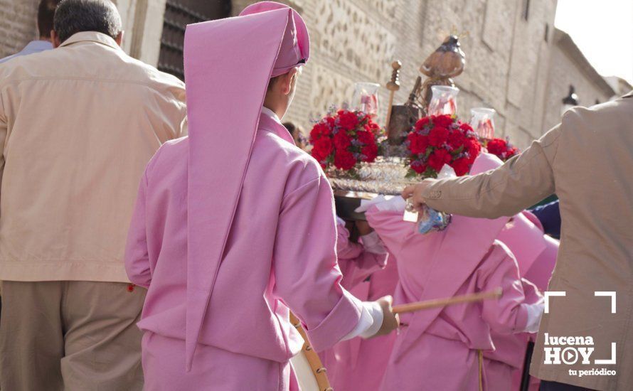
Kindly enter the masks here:
M 124 245 L 139 179 L 186 132 L 180 80 L 126 55 L 107 0 L 64 0 L 57 48 L 0 65 L 0 388 L 141 390 L 145 291 Z

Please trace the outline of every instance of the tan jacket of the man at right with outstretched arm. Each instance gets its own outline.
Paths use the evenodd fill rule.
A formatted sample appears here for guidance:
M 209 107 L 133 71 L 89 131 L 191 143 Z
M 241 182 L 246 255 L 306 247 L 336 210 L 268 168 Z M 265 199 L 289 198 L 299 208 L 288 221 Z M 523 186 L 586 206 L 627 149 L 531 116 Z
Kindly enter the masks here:
M 633 93 L 572 109 L 560 125 L 503 166 L 438 181 L 423 196 L 438 210 L 496 218 L 514 215 L 552 193 L 560 198 L 563 225 L 548 290 L 566 296 L 549 300 L 531 373 L 595 390 L 633 390 Z M 615 314 L 610 296 L 595 296 L 595 291 L 616 292 Z M 595 346 L 585 346 L 595 348 L 590 363 L 546 364 L 544 348 L 555 346 L 543 345 L 544 333 L 592 337 Z M 612 343 L 616 364 L 595 363 L 612 358 Z M 565 359 L 573 362 L 575 353 L 568 353 Z M 580 370 L 594 368 L 617 373 L 579 376 Z

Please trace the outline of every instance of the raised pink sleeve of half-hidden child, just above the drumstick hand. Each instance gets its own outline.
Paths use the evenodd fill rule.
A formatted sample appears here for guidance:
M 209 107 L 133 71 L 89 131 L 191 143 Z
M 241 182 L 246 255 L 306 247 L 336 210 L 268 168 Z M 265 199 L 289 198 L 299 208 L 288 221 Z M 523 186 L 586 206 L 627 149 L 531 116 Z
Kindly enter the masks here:
M 344 225 L 337 224 L 338 239 L 336 240 L 336 255 L 343 274 L 341 285 L 345 289 L 352 289 L 365 281 L 373 272 L 384 269 L 387 264 L 386 254 L 374 254 L 365 251 L 363 245 L 350 242 L 349 232 Z

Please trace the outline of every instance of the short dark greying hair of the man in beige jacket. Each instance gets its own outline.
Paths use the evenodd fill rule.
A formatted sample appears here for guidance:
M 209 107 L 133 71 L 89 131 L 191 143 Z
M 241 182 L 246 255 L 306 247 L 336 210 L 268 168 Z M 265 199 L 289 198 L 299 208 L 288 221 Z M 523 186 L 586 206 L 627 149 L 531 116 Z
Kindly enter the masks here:
M 121 32 L 121 16 L 110 0 L 62 0 L 53 23 L 61 42 L 82 31 L 97 31 L 112 38 Z

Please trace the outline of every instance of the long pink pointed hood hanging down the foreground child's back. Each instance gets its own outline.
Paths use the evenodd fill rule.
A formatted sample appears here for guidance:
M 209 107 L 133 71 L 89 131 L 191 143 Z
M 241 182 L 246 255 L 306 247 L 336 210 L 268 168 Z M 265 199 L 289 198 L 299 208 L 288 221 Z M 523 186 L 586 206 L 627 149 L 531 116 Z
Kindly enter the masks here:
M 187 26 L 187 370 L 223 259 L 268 82 L 303 65 L 308 56 L 302 18 L 271 1 L 254 4 L 235 18 Z

